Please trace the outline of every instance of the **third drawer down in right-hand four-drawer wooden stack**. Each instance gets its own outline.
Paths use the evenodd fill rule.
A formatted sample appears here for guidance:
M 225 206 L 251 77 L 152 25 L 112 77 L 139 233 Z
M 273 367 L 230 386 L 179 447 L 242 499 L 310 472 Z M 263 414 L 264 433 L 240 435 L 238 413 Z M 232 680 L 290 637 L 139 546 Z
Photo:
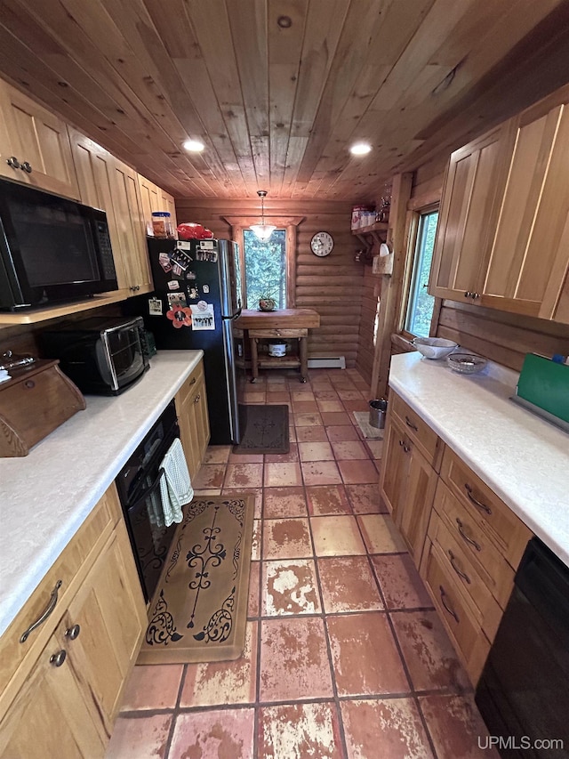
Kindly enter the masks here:
M 477 610 L 478 624 L 492 642 L 500 625 L 502 610 L 488 588 L 489 577 L 486 573 L 481 575 L 478 572 L 468 553 L 457 542 L 436 511 L 431 513 L 429 539 L 444 556 L 446 574 L 454 577 L 455 584 L 460 585 L 462 591 L 469 595 Z

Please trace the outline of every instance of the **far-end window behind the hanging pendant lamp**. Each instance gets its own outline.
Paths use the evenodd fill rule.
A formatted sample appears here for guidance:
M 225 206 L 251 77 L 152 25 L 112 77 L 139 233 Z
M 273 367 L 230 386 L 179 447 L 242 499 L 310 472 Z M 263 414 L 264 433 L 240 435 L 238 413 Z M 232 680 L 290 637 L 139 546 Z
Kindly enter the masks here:
M 286 230 L 275 230 L 266 242 L 243 230 L 247 309 L 258 309 L 261 297 L 286 308 Z

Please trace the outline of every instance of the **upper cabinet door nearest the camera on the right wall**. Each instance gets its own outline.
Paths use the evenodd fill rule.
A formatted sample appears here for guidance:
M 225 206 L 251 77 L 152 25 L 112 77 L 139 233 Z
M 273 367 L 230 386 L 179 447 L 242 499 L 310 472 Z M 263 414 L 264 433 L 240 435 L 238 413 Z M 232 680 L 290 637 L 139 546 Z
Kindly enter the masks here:
M 555 318 L 569 214 L 569 112 L 551 99 L 514 120 L 516 143 L 493 238 L 482 304 Z

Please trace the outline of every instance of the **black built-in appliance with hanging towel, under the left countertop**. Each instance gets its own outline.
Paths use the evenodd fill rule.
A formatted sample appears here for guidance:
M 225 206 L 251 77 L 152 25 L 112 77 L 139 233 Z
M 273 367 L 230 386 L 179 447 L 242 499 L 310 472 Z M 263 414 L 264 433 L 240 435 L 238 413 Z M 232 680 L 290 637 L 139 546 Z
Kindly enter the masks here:
M 160 518 L 160 480 L 164 474 L 160 464 L 172 442 L 179 437 L 180 428 L 172 400 L 115 480 L 140 585 L 147 601 L 152 599 L 178 526 L 174 523 L 165 527 Z

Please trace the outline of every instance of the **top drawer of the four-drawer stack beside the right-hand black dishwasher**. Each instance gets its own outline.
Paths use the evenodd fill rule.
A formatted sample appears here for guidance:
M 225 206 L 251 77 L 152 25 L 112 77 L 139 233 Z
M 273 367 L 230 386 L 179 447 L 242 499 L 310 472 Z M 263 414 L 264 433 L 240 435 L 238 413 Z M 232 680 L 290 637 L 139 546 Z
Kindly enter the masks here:
M 465 510 L 498 546 L 510 566 L 517 569 L 532 531 L 451 448 L 445 449 L 441 477 Z

